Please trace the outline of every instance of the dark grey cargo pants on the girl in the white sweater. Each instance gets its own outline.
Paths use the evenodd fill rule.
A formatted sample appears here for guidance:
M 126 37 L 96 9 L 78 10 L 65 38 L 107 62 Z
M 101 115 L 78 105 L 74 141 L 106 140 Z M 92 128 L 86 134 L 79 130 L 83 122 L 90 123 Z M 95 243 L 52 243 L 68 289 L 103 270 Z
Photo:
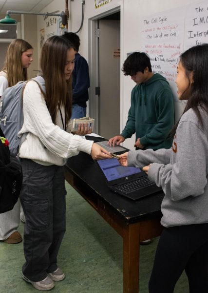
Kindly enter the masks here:
M 23 186 L 20 194 L 24 226 L 23 274 L 41 281 L 57 269 L 57 254 L 66 230 L 63 167 L 42 166 L 21 159 Z

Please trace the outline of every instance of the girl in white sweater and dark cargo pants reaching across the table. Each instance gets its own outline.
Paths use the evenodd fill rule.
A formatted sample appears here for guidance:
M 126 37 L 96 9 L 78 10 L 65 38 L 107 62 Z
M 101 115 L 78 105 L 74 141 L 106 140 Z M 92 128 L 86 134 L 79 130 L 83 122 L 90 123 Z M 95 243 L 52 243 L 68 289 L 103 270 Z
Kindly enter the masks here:
M 53 36 L 43 45 L 40 67 L 46 92 L 29 81 L 23 94 L 24 123 L 28 133 L 19 149 L 23 171 L 20 194 L 25 213 L 22 277 L 38 290 L 50 290 L 65 274 L 57 266 L 57 253 L 65 232 L 63 165 L 79 151 L 93 159 L 109 153 L 93 141 L 68 133 L 72 111 L 72 71 L 75 51 L 65 38 Z M 79 134 L 86 134 L 82 125 Z

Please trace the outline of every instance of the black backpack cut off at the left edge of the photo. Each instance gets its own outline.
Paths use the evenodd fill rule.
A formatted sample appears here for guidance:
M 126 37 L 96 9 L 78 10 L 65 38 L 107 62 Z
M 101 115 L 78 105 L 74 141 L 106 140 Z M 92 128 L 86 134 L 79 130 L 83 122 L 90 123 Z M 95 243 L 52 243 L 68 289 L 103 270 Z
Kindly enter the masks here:
M 8 141 L 0 128 L 0 213 L 14 208 L 22 185 L 21 165 L 10 154 Z

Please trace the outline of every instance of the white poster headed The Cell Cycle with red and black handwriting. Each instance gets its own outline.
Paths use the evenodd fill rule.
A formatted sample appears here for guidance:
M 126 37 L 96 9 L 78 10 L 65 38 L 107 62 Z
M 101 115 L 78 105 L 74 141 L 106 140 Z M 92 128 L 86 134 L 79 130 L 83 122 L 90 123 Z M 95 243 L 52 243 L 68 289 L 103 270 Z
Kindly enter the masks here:
M 152 72 L 160 73 L 174 91 L 176 67 L 183 52 L 184 16 L 175 11 L 159 13 L 142 20 L 141 50 L 150 56 Z M 177 100 L 177 96 L 175 99 Z

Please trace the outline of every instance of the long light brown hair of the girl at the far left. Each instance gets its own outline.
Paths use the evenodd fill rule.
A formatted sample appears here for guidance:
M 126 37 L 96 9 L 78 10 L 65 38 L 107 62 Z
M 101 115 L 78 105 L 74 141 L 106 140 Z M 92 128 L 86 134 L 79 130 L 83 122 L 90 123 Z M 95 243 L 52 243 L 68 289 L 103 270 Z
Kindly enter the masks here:
M 2 69 L 7 74 L 8 86 L 27 80 L 27 68 L 22 66 L 21 55 L 29 49 L 33 47 L 22 39 L 15 39 L 10 43 Z

